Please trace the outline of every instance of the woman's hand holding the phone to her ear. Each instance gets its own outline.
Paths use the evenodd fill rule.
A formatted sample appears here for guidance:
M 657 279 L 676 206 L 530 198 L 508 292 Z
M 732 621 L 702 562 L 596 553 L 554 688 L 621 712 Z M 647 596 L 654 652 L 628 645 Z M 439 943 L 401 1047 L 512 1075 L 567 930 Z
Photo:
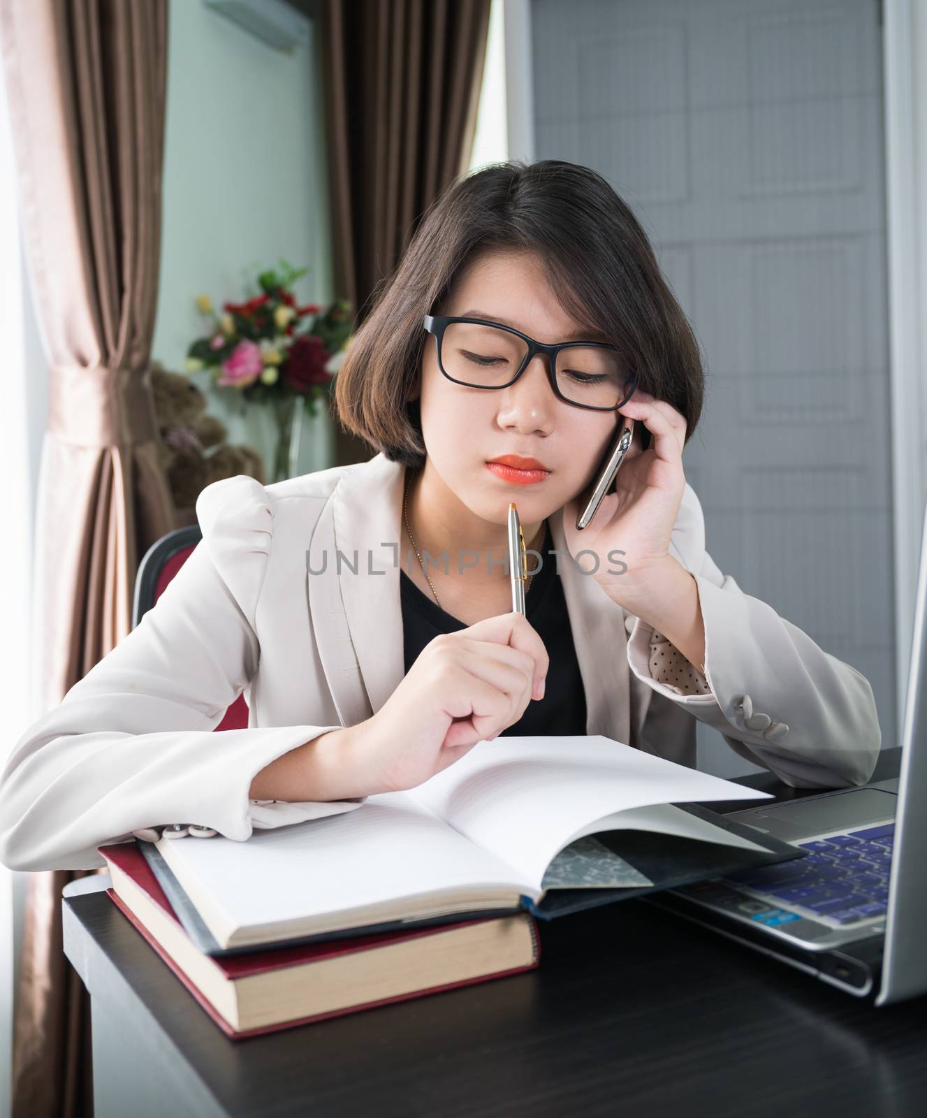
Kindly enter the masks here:
M 593 571 L 595 567 L 595 578 L 605 593 L 625 605 L 670 559 L 670 536 L 685 489 L 685 418 L 665 400 L 640 388 L 618 411 L 650 430 L 651 445 L 642 451 L 635 430 L 617 473 L 615 493 L 603 498 L 581 532 L 576 528 L 579 496 L 569 501 L 564 508 L 564 533 L 581 569 Z M 590 555 L 580 556 L 584 551 L 594 552 L 598 565 Z

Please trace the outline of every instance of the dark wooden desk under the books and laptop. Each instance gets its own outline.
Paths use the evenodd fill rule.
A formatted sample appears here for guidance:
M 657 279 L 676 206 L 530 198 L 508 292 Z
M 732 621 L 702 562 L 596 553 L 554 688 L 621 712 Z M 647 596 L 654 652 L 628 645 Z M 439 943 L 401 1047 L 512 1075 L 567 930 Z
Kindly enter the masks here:
M 877 1010 L 642 901 L 542 923 L 530 974 L 239 1042 L 104 893 L 63 903 L 96 1118 L 924 1114 L 927 997 Z

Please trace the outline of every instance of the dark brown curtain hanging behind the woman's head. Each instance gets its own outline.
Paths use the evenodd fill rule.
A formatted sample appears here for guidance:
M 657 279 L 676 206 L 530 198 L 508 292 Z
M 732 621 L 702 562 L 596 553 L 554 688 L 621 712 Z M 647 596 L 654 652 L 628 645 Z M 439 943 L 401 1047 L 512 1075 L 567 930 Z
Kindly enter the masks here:
M 490 0 L 322 0 L 334 294 L 356 324 L 473 149 Z M 337 432 L 337 463 L 371 448 Z

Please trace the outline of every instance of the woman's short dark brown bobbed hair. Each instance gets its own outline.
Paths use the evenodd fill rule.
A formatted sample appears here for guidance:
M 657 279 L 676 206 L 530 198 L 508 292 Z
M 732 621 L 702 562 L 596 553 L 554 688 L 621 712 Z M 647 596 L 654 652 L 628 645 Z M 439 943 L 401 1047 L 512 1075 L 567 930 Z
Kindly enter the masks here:
M 457 277 L 490 249 L 537 255 L 564 310 L 685 417 L 689 440 L 704 397 L 692 328 L 630 207 L 596 171 L 558 159 L 485 167 L 435 198 L 341 363 L 343 426 L 394 462 L 424 464 L 418 401 L 409 400 L 429 337 L 422 319 L 441 313 Z

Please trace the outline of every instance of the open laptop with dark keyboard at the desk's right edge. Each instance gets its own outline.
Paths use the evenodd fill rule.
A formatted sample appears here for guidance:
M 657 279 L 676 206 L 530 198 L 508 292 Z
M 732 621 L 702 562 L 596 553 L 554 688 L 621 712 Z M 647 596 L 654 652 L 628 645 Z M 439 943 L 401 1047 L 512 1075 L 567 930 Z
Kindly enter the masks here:
M 668 889 L 646 903 L 888 1005 L 927 992 L 927 506 L 900 775 L 731 812 L 801 859 Z M 918 809 L 920 807 L 920 809 Z

